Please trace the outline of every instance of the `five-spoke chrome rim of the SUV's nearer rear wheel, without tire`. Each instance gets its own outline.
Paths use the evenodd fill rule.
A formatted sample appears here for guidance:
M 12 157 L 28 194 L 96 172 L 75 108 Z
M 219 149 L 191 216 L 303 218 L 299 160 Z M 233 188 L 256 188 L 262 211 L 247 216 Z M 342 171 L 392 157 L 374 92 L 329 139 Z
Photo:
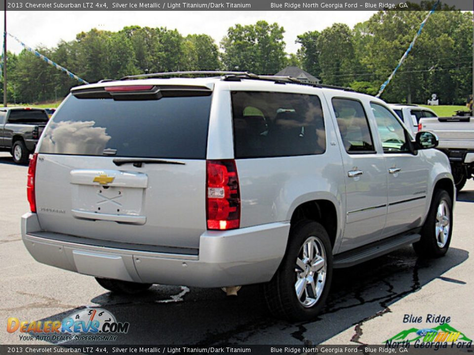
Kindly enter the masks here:
M 312 307 L 326 282 L 326 251 L 317 237 L 309 237 L 301 247 L 295 266 L 295 292 L 303 307 Z

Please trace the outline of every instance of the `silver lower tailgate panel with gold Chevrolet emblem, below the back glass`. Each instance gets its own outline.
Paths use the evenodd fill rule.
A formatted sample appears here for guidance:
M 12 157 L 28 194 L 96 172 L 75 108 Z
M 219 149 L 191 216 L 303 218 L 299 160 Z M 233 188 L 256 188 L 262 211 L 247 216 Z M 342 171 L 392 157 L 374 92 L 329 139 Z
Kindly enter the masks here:
M 41 228 L 121 243 L 198 248 L 206 229 L 205 161 L 119 168 L 113 159 L 39 154 Z

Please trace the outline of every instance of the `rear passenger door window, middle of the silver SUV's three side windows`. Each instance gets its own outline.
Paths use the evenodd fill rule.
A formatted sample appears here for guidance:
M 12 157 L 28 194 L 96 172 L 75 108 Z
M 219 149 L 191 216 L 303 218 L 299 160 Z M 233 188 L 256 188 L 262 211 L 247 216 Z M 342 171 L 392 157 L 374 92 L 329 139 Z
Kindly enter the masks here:
M 359 101 L 334 98 L 332 107 L 344 148 L 348 153 L 373 153 L 375 151 L 369 123 Z

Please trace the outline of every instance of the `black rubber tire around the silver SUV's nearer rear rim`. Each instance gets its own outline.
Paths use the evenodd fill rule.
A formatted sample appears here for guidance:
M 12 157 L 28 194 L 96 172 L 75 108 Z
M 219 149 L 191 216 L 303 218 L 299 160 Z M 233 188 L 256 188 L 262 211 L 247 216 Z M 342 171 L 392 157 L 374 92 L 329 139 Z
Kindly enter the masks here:
M 299 299 L 296 293 L 298 280 L 301 280 L 302 284 L 305 284 L 305 281 L 311 275 L 308 275 L 309 270 L 302 271 L 303 269 L 297 266 L 297 258 L 302 259 L 300 256 L 303 256 L 303 246 L 306 242 L 310 241 L 311 238 L 314 238 L 315 245 L 317 245 L 317 247 L 313 249 L 313 252 L 315 252 L 317 248 L 324 249 L 320 254 L 324 256 L 323 259 L 325 260 L 325 278 L 323 282 L 315 282 L 316 285 L 322 284 L 318 297 L 311 297 L 315 296 L 315 293 L 312 291 L 313 288 L 311 284 L 308 284 L 303 288 L 305 291 Z M 316 254 L 317 253 L 318 252 L 316 252 Z M 319 273 L 314 274 L 315 277 L 319 275 Z M 264 284 L 263 287 L 269 311 L 277 318 L 284 318 L 290 321 L 315 319 L 326 301 L 331 286 L 331 279 L 332 247 L 326 230 L 321 224 L 314 221 L 304 220 L 298 222 L 290 229 L 286 254 L 276 274 L 273 279 L 269 283 Z M 302 301 L 305 299 L 312 301 L 309 301 L 309 303 L 304 306 Z

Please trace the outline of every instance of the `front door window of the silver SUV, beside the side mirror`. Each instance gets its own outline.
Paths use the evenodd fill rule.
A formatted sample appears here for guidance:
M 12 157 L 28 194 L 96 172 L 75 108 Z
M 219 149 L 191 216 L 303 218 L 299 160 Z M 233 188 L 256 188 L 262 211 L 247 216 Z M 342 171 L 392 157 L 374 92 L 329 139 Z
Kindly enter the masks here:
M 408 152 L 405 130 L 393 113 L 386 107 L 376 103 L 370 103 L 370 107 L 372 107 L 372 112 L 377 122 L 377 129 L 382 140 L 384 152 Z

